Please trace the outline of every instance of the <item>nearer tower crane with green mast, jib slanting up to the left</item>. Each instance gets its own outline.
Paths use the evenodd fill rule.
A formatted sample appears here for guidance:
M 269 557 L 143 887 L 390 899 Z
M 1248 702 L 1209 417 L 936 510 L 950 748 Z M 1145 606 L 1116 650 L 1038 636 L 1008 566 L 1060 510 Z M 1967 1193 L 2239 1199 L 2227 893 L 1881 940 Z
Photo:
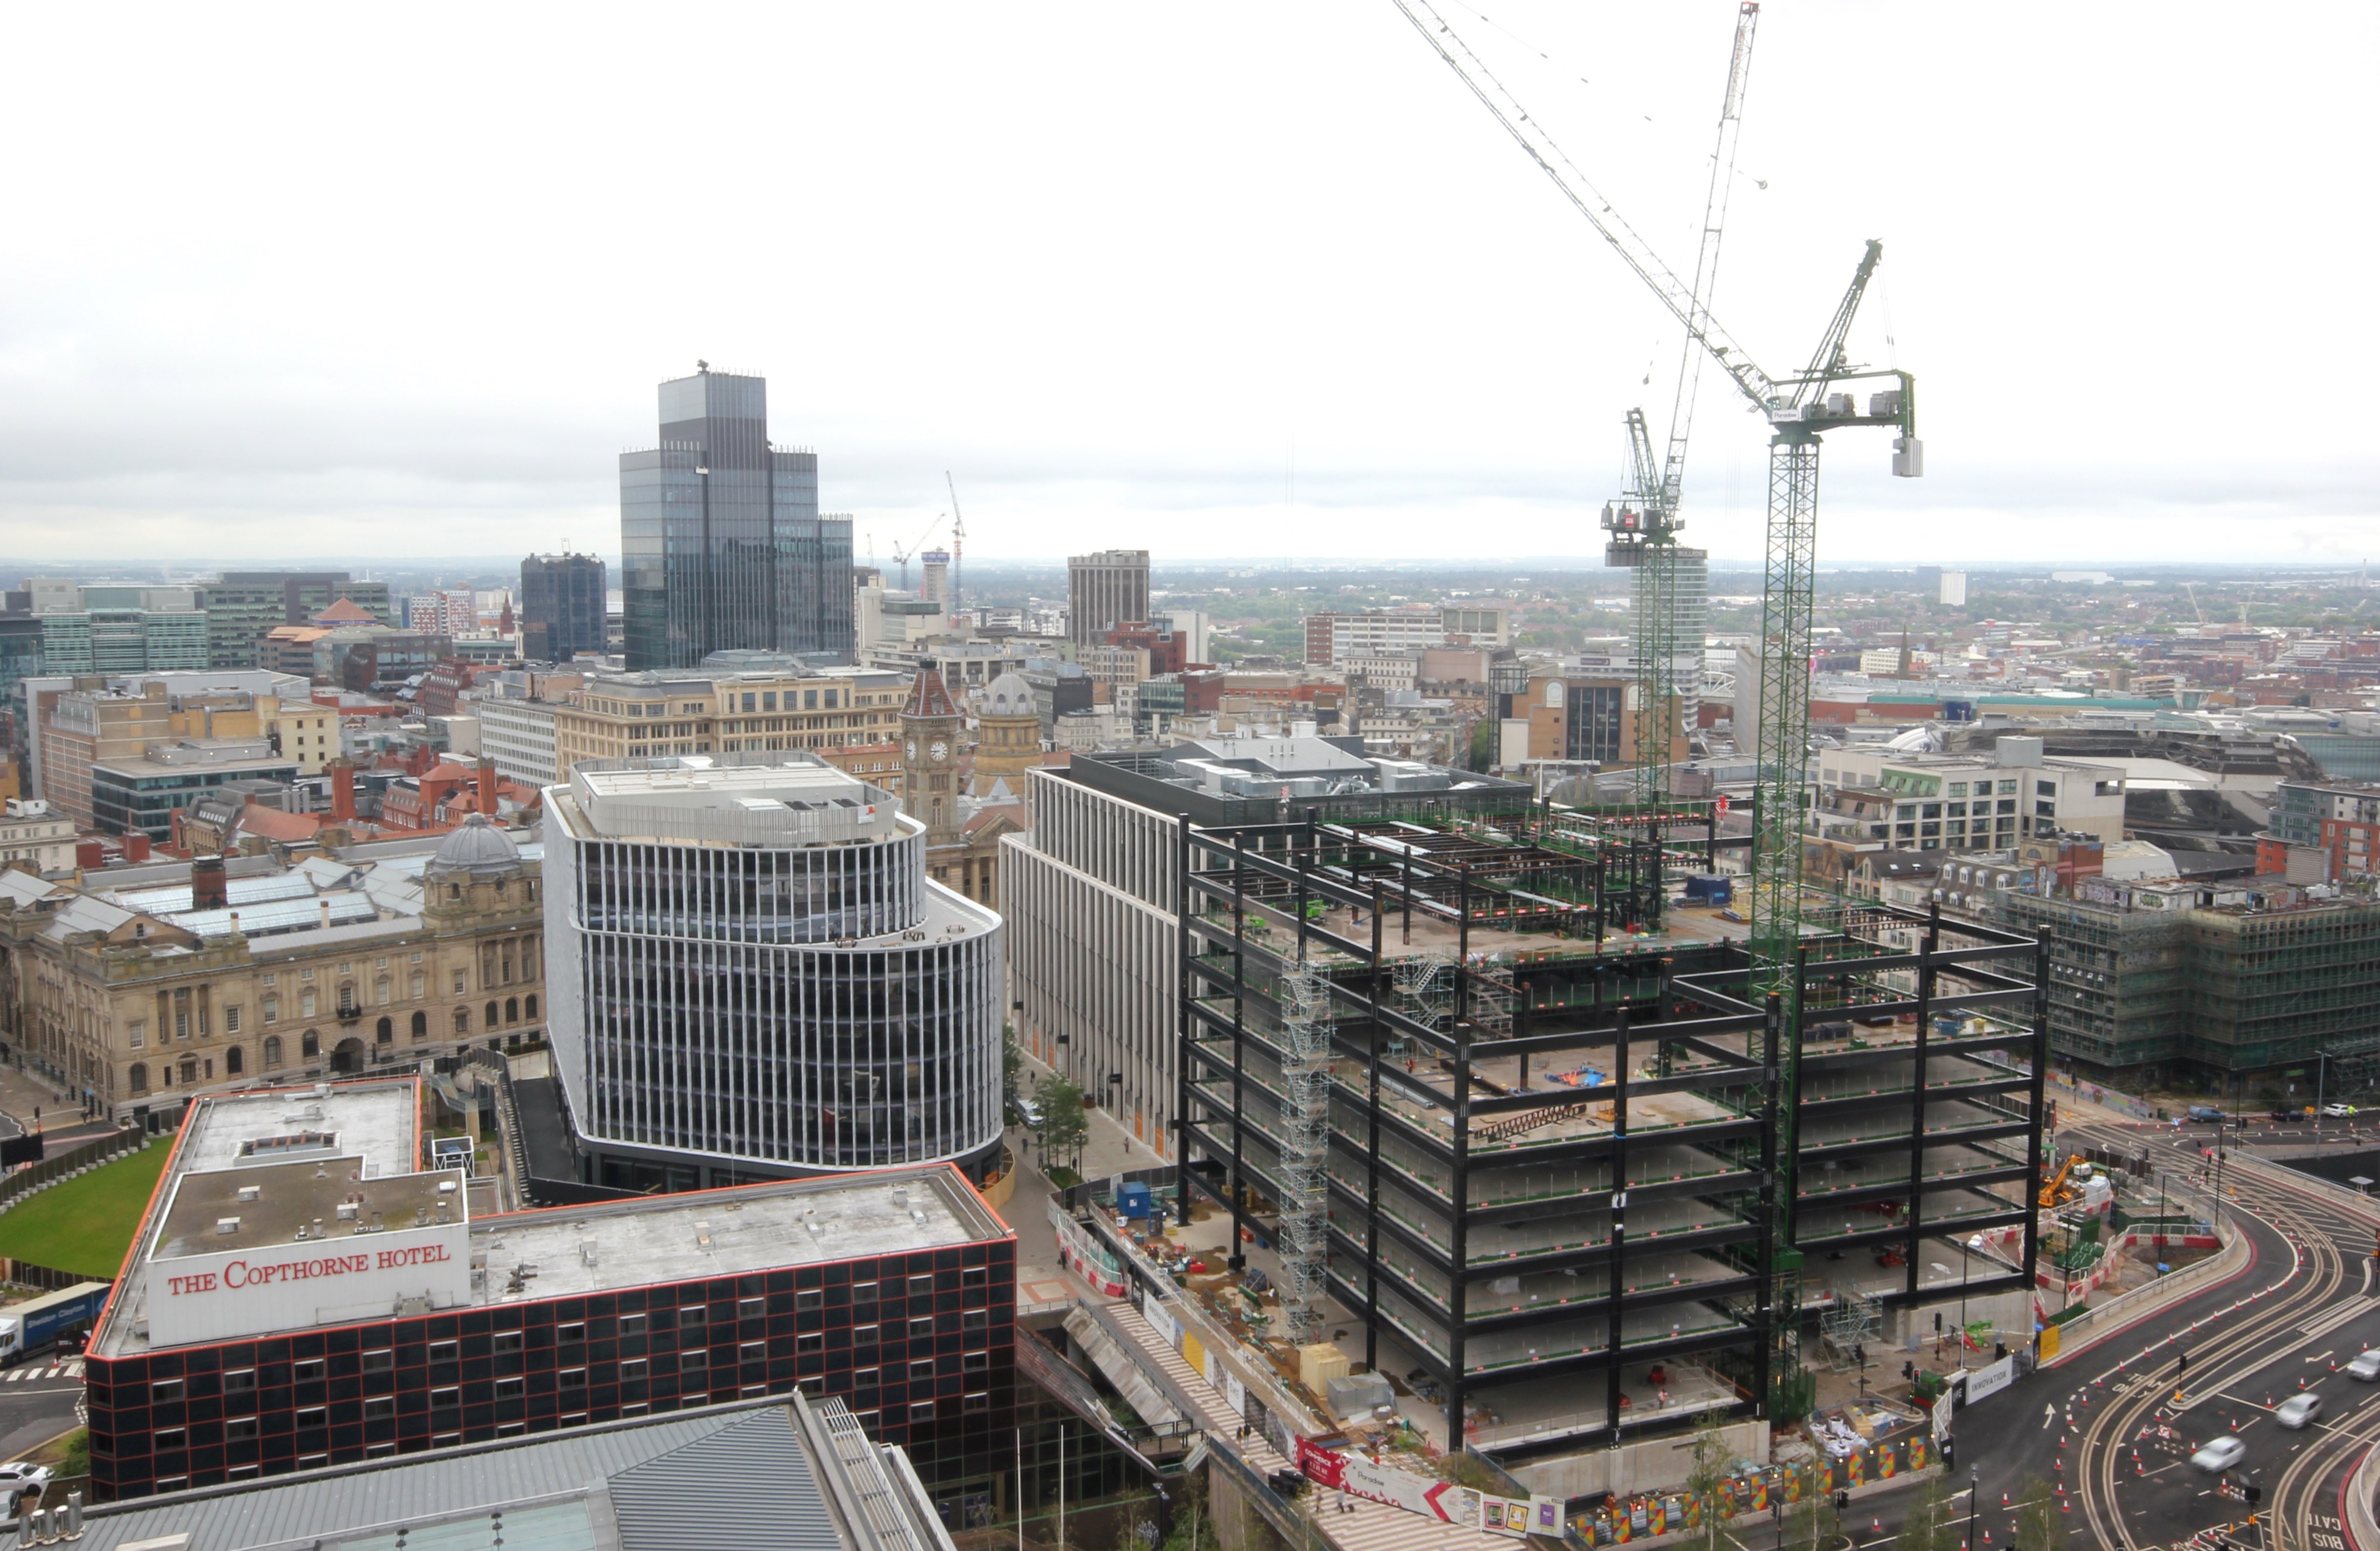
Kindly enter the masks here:
M 1799 1373 L 1799 1251 L 1795 1249 L 1795 1085 L 1799 1073 L 1799 944 L 1802 944 L 1802 802 L 1809 768 L 1809 647 L 1814 609 L 1814 559 L 1818 538 L 1818 445 L 1825 431 L 1849 426 L 1890 426 L 1892 473 L 1916 478 L 1925 471 L 1925 452 L 1916 435 L 1916 378 L 1897 369 L 1852 366 L 1844 343 L 1868 278 L 1883 257 L 1880 243 L 1868 243 L 1849 290 L 1835 304 L 1809 366 L 1797 376 L 1773 378 L 1752 359 L 1735 335 L 1711 314 L 1697 290 L 1709 274 L 1687 285 L 1611 207 L 1578 164 L 1554 143 L 1545 124 L 1533 119 L 1521 100 L 1488 69 L 1461 36 L 1447 26 L 1430 0 L 1390 0 L 1421 33 L 1447 69 L 1461 79 L 1480 105 L 1495 114 L 1504 133 L 1554 181 L 1554 188 L 1618 252 L 1621 262 L 1678 319 L 1692 345 L 1718 362 L 1735 388 L 1768 419 L 1768 535 L 1766 578 L 1761 590 L 1759 649 L 1759 749 L 1749 956 L 1752 994 L 1771 999 L 1768 1063 L 1775 1070 L 1775 1168 L 1764 1185 L 1764 1208 L 1773 1227 L 1773 1285 L 1764 1299 L 1771 1311 L 1771 1375 L 1785 1380 Z M 1709 219 L 1706 219 L 1709 240 Z M 1706 255 L 1716 266 L 1716 255 Z M 1837 383 L 1892 378 L 1892 388 L 1873 393 L 1866 407 L 1849 393 L 1830 393 Z M 1637 431 L 1640 426 L 1633 426 Z M 1678 447 L 1683 464 L 1683 445 Z M 1652 445 L 1642 440 L 1640 485 L 1649 473 Z M 1664 497 L 1668 469 L 1661 471 Z M 1745 740 L 1737 728 L 1737 742 Z M 1647 752 L 1640 749 L 1640 759 Z M 1799 1380 L 1797 1380 L 1799 1382 Z M 1766 1399 L 1766 1396 L 1764 1396 Z

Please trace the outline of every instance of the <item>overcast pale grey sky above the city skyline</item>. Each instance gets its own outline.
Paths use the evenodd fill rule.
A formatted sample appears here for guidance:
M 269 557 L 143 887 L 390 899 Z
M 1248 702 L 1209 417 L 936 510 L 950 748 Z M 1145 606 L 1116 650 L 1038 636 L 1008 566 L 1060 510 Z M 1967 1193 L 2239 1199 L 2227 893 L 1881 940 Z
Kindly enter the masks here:
M 1678 266 L 1733 0 L 1449 10 Z M 1585 554 L 1676 331 L 1388 0 L 38 7 L 0 552 L 614 552 L 654 383 L 769 376 L 876 554 Z M 1856 354 L 1821 559 L 2380 547 L 2370 5 L 1761 17 L 1718 316 Z M 1766 183 L 1761 188 L 1759 183 Z M 1652 373 L 1647 385 L 1642 378 Z M 1690 538 L 1759 554 L 1704 381 Z M 866 540 L 862 540 L 862 547 Z

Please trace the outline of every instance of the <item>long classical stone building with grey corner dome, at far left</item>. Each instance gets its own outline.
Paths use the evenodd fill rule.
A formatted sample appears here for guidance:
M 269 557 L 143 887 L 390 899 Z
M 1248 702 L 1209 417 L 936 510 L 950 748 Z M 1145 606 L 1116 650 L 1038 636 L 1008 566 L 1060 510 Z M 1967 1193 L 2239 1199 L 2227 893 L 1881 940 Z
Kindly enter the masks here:
M 0 873 L 0 1037 L 117 1120 L 543 1032 L 543 847 L 474 814 L 409 842 Z

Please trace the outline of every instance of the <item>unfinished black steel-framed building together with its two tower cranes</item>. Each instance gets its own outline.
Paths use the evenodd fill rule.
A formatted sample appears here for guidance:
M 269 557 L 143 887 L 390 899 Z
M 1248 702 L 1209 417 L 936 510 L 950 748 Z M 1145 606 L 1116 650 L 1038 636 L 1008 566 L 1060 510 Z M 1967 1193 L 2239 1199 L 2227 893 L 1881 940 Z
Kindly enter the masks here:
M 1916 1349 L 1947 1308 L 1961 1339 L 2033 1335 L 2044 949 L 1802 875 L 1821 442 L 1887 431 L 1904 478 L 1923 445 L 1916 378 L 1849 354 L 1880 243 L 1799 371 L 1716 321 L 1759 5 L 1671 269 L 1447 14 L 1395 2 L 1683 328 L 1666 447 L 1633 409 L 1602 511 L 1635 578 L 1637 764 L 1595 809 L 1483 783 L 1426 811 L 1280 787 L 1261 818 L 1140 797 L 1180 814 L 1178 1189 L 1228 1213 L 1233 1268 L 1278 1256 L 1290 1349 L 1576 1501 L 1635 1437 L 1802 1418 L 1814 1365 L 1864 1387 L 1868 1346 Z M 1704 554 L 1678 533 L 1704 362 L 1768 426 L 1745 833 L 1668 790 L 1702 692 L 1678 578 Z

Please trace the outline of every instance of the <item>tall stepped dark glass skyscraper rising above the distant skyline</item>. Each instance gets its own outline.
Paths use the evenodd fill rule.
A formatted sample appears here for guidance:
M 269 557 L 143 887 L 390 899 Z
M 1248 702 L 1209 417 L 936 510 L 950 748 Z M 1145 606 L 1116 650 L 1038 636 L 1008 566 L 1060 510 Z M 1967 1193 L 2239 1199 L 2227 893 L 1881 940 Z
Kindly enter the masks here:
M 769 383 L 662 383 L 662 445 L 619 459 L 631 668 L 709 652 L 852 654 L 852 519 L 819 516 L 819 454 L 769 445 Z

